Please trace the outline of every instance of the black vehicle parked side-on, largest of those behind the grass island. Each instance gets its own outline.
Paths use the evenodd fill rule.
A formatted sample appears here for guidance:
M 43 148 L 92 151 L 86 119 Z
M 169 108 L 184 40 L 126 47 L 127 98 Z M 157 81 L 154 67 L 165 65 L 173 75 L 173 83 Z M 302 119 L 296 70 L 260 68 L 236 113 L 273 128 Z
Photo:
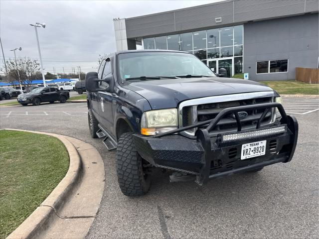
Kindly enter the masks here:
M 53 103 L 59 101 L 65 103 L 70 98 L 68 91 L 60 91 L 55 87 L 37 87 L 29 93 L 21 94 L 18 96 L 17 101 L 22 106 L 32 104 L 38 106 L 43 102 Z

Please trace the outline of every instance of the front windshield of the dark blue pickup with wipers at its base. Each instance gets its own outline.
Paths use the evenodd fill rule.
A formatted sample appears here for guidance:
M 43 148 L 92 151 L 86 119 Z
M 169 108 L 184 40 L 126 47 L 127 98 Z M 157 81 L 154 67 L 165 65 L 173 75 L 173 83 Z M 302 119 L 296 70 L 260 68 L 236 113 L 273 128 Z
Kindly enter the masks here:
M 118 71 L 121 82 L 141 77 L 146 80 L 155 80 L 155 77 L 215 77 L 201 60 L 182 52 L 121 53 L 118 55 Z

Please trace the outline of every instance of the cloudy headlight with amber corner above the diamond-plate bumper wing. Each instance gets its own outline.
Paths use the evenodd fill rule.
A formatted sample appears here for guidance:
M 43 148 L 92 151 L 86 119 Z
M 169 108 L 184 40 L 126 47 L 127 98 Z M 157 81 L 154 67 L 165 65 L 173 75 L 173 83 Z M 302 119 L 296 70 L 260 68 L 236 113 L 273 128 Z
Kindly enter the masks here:
M 147 111 L 141 119 L 141 133 L 154 135 L 177 128 L 177 109 Z

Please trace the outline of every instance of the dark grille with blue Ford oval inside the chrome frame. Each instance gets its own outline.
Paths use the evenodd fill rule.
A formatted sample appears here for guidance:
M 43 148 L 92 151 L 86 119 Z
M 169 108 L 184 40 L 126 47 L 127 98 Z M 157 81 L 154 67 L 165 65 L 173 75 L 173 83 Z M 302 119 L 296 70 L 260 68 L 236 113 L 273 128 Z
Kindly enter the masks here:
M 243 94 L 244 95 L 244 94 Z M 257 104 L 265 104 L 273 102 L 274 97 L 261 97 L 261 98 L 253 98 L 253 99 L 244 99 L 244 100 L 236 100 L 236 101 L 226 101 L 226 102 L 217 102 L 217 103 L 207 103 L 200 105 L 191 105 L 185 106 L 181 109 L 180 116 L 182 120 L 180 120 L 181 126 L 188 126 L 197 122 L 202 122 L 209 119 L 215 119 L 220 111 L 230 107 L 238 107 L 238 106 L 248 106 L 248 105 L 257 105 Z M 247 113 L 247 117 L 241 119 L 242 129 L 248 129 L 256 127 L 258 119 L 263 114 L 264 110 L 251 110 L 245 111 Z M 267 125 L 272 123 L 273 116 L 275 111 L 269 111 L 265 118 L 262 120 L 261 125 Z M 206 127 L 207 125 L 203 125 L 201 127 Z M 186 133 L 193 134 L 196 131 L 195 129 L 190 129 L 185 131 Z M 236 119 L 233 114 L 225 116 L 221 119 L 215 129 L 210 131 L 210 134 L 218 134 L 221 132 L 229 132 L 229 131 L 237 131 Z

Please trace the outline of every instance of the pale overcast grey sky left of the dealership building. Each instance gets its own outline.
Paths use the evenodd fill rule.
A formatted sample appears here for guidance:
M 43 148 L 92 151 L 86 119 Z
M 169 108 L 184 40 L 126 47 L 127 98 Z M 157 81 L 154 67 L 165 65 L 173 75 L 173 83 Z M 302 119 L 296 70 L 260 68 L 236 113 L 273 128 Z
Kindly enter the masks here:
M 38 59 L 34 27 L 38 28 L 45 71 L 71 72 L 81 66 L 91 71 L 99 54 L 116 50 L 113 18 L 127 18 L 160 11 L 206 4 L 219 0 L 0 0 L 0 37 L 6 60 L 17 57 Z M 1 68 L 3 57 L 0 56 Z

